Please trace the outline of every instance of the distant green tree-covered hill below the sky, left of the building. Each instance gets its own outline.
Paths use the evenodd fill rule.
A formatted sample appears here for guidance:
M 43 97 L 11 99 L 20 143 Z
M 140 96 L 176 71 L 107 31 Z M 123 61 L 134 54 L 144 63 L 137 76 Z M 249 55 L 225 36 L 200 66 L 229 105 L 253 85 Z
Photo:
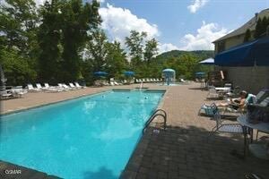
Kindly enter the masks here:
M 156 59 L 163 59 L 166 60 L 171 57 L 179 57 L 181 55 L 194 55 L 199 61 L 202 61 L 206 58 L 213 57 L 214 51 L 213 50 L 197 50 L 197 51 L 183 51 L 183 50 L 172 50 L 169 52 L 164 52 L 161 55 L 157 55 Z

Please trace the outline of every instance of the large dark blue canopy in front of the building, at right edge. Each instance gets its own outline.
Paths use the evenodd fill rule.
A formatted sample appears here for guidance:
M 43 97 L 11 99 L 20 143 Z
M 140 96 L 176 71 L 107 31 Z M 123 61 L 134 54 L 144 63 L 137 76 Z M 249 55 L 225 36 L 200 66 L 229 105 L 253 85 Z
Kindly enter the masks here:
M 269 38 L 260 38 L 232 47 L 215 56 L 215 65 L 254 66 L 269 65 Z

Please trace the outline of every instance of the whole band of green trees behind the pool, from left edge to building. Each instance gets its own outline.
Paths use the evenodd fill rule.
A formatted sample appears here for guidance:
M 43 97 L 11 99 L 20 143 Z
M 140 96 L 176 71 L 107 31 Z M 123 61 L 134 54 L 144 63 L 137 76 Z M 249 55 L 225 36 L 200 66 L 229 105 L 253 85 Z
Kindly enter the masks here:
M 158 40 L 143 31 L 131 30 L 124 42 L 109 40 L 100 28 L 96 0 L 52 0 L 39 7 L 33 0 L 5 0 L 0 8 L 0 63 L 7 85 L 78 80 L 92 84 L 97 71 L 116 79 L 125 78 L 125 71 L 134 71 L 136 78 L 161 78 L 164 68 L 191 79 L 195 71 L 209 69 L 198 62 L 213 55 L 158 55 Z

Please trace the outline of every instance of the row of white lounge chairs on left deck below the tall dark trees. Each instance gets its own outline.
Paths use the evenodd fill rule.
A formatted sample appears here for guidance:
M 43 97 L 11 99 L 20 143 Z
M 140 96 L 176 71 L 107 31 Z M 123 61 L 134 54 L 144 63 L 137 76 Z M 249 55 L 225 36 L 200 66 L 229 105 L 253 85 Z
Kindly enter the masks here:
M 42 86 L 40 83 L 36 83 L 36 88 L 33 87 L 32 84 L 27 85 L 27 89 L 32 92 L 39 92 L 39 91 L 45 91 L 45 92 L 61 92 L 61 91 L 67 91 L 67 90 L 79 90 L 85 87 L 82 87 L 78 82 L 69 82 L 69 85 L 66 85 L 65 83 L 58 83 L 58 86 L 50 86 L 48 83 L 44 83 L 44 86 Z

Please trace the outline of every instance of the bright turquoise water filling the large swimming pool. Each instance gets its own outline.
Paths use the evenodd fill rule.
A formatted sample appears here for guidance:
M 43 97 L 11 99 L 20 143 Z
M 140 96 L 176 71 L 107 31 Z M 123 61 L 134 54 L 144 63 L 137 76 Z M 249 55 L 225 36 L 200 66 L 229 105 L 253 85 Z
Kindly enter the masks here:
M 162 95 L 107 91 L 4 115 L 0 159 L 63 178 L 118 178 Z

